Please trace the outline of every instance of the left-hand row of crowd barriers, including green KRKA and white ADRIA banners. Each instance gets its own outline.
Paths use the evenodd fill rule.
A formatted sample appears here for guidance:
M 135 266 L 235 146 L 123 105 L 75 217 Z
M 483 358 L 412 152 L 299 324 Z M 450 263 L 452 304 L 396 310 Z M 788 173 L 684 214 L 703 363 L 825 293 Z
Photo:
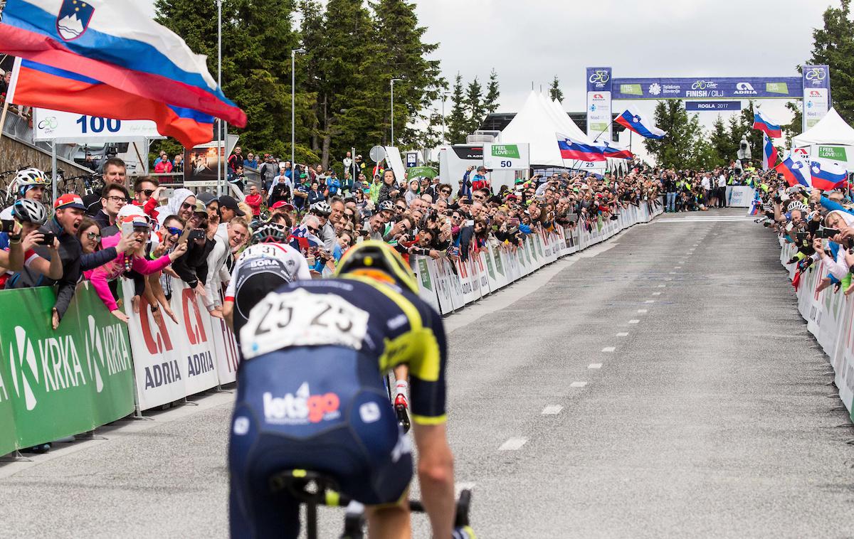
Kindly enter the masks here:
M 662 210 L 660 201 L 629 206 L 590 232 L 558 229 L 529 235 L 515 250 L 471 251 L 465 262 L 412 257 L 411 263 L 422 296 L 447 314 Z M 121 281 L 120 295 L 130 297 L 132 281 Z M 173 280 L 170 298 L 177 323 L 162 310 L 158 322 L 143 299 L 138 312 L 123 302 L 124 324 L 83 282 L 54 332 L 54 301 L 49 287 L 0 291 L 0 455 L 236 380 L 234 335 L 180 281 Z

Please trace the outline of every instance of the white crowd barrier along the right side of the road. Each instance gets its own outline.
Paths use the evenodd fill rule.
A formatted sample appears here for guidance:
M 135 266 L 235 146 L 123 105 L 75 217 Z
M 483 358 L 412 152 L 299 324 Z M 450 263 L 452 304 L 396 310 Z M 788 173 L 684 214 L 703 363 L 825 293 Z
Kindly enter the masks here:
M 786 264 L 797 252 L 791 243 L 780 240 L 780 263 L 789 272 L 791 280 L 796 264 Z M 818 262 L 801 275 L 798 286 L 798 311 L 806 320 L 807 330 L 828 354 L 834 368 L 834 383 L 839 388 L 839 399 L 854 421 L 854 297 L 833 287 L 818 291 L 822 279 L 828 275 L 824 263 Z

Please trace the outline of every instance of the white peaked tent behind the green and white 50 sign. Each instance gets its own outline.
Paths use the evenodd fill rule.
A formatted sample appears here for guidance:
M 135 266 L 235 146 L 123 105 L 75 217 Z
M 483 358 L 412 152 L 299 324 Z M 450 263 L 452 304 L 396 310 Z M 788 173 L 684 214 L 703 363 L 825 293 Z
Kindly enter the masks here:
M 556 132 L 560 125 L 553 111 L 547 109 L 533 90 L 522 109 L 501 131 L 501 142 L 528 142 L 532 166 L 564 166 L 560 157 Z

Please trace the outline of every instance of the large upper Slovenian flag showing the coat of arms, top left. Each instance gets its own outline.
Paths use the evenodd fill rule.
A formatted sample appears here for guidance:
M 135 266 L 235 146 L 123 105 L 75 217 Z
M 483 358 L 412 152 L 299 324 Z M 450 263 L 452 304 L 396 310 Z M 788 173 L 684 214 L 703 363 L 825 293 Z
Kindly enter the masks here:
M 246 114 L 225 98 L 208 72 L 206 57 L 193 53 L 177 34 L 151 20 L 140 4 L 8 0 L 0 22 L 0 52 L 78 73 L 148 100 L 209 114 L 237 127 L 246 125 Z

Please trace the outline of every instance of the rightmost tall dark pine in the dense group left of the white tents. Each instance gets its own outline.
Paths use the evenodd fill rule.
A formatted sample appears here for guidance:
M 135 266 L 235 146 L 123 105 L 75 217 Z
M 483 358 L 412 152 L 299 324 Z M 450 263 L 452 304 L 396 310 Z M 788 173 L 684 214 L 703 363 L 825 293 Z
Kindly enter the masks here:
M 424 43 L 424 26 L 418 26 L 415 4 L 406 0 L 377 0 L 372 4 L 375 17 L 373 39 L 378 57 L 371 77 L 374 84 L 389 89 L 392 78 L 403 78 L 395 84 L 395 144 L 407 146 L 417 136 L 413 123 L 419 111 L 439 98 L 443 79 L 439 61 L 429 60 L 438 43 Z M 377 107 L 378 94 L 374 102 Z M 388 97 L 383 100 L 388 103 Z M 382 110 L 383 107 L 377 107 Z M 384 114 L 389 125 L 389 113 Z M 388 131 L 383 133 L 383 139 Z

